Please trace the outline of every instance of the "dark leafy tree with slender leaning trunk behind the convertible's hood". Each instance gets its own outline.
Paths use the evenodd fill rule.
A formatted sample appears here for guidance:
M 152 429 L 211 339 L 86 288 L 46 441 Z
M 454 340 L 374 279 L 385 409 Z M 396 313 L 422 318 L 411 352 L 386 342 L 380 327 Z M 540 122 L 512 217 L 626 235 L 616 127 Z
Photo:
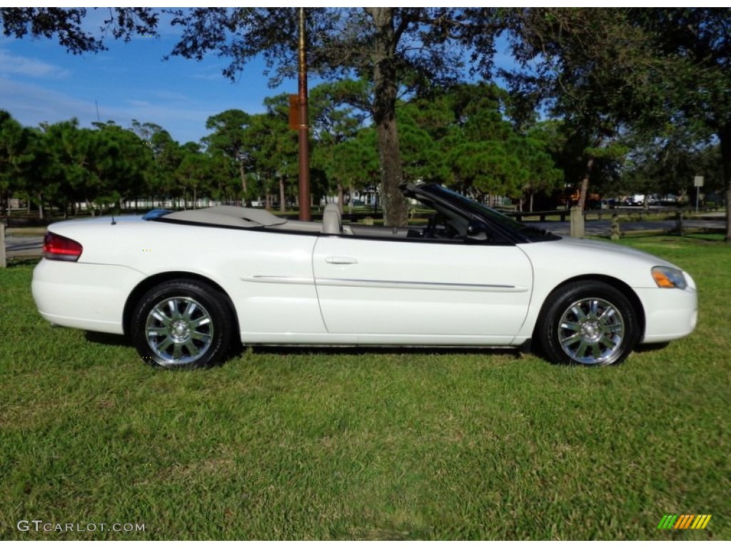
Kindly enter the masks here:
M 511 42 L 522 72 L 510 72 L 512 89 L 548 105 L 581 143 L 583 208 L 592 170 L 626 148 L 629 128 L 667 121 L 663 75 L 647 34 L 621 8 L 526 8 L 512 14 Z

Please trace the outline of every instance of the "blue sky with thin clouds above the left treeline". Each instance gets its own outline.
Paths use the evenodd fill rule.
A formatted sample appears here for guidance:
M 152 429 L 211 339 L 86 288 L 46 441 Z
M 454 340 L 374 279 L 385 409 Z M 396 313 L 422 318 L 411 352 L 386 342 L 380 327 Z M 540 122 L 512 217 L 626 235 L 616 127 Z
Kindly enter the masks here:
M 91 12 L 89 28 L 98 28 L 103 14 Z M 265 97 L 296 93 L 296 80 L 269 88 L 264 64 L 254 60 L 231 82 L 221 75 L 225 58 L 203 61 L 172 57 L 180 28 L 162 23 L 159 37 L 134 37 L 128 43 L 105 39 L 100 53 L 74 56 L 53 39 L 0 36 L 0 109 L 24 126 L 77 118 L 80 126 L 132 120 L 167 129 L 183 143 L 208 134 L 206 119 L 238 108 L 261 113 Z M 496 59 L 498 61 L 498 59 Z M 310 85 L 315 83 L 310 77 Z

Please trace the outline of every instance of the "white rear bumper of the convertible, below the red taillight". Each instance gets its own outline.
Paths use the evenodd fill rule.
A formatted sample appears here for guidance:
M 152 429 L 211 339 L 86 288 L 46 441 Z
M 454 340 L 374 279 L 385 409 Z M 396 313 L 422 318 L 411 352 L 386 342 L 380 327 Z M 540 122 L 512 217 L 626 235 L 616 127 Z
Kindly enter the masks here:
M 53 324 L 121 335 L 127 297 L 143 278 L 118 265 L 42 259 L 31 292 L 41 316 Z

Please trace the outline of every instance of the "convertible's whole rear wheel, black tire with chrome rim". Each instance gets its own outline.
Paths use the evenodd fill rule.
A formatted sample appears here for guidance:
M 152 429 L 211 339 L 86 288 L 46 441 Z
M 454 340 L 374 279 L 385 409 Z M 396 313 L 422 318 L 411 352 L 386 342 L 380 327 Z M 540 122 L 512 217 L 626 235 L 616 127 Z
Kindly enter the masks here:
M 146 292 L 132 314 L 132 343 L 148 365 L 210 368 L 227 358 L 235 322 L 225 297 L 196 280 L 171 280 Z

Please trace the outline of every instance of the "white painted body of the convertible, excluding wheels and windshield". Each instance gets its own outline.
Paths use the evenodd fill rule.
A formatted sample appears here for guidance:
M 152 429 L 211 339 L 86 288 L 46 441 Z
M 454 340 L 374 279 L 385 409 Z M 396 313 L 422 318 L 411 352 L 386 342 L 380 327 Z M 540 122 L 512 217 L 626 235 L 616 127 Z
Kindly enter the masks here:
M 189 278 L 227 296 L 245 345 L 520 346 L 557 288 L 606 282 L 635 307 L 637 342 L 681 338 L 697 321 L 690 275 L 682 273 L 681 289 L 661 288 L 652 268 L 679 269 L 624 246 L 406 237 L 406 229 L 391 237 L 347 225 L 333 234 L 319 223 L 268 225 L 273 216 L 243 208 L 175 215 L 52 224 L 50 233 L 83 252 L 75 261 L 39 262 L 32 283 L 39 312 L 60 326 L 129 334 L 145 290 Z

